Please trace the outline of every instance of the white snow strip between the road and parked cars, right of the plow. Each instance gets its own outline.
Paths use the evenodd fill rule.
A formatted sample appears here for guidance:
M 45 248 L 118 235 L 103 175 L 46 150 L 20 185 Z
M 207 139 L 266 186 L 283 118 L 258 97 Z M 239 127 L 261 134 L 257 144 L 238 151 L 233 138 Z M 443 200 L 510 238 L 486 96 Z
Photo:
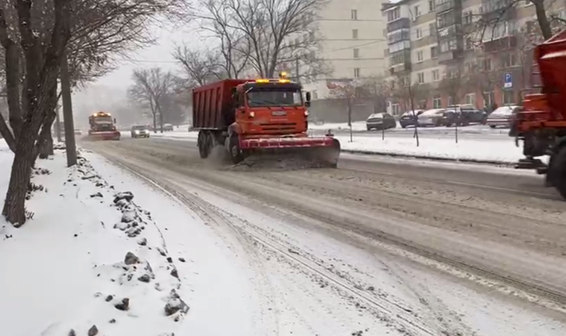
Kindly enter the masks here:
M 522 147 L 516 147 L 509 139 L 471 140 L 461 139 L 419 139 L 419 147 L 413 137 L 391 137 L 381 140 L 380 136 L 336 136 L 343 150 L 367 154 L 393 154 L 398 156 L 417 156 L 444 160 L 517 162 L 522 155 Z

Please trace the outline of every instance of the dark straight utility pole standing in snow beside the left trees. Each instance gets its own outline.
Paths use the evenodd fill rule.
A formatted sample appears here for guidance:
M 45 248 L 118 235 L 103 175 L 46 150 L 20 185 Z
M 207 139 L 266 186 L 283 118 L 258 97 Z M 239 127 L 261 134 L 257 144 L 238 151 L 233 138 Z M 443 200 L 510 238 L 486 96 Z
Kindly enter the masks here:
M 61 98 L 63 99 L 63 122 L 65 123 L 65 148 L 67 167 L 76 165 L 75 125 L 72 119 L 71 79 L 67 63 L 67 52 L 61 63 Z

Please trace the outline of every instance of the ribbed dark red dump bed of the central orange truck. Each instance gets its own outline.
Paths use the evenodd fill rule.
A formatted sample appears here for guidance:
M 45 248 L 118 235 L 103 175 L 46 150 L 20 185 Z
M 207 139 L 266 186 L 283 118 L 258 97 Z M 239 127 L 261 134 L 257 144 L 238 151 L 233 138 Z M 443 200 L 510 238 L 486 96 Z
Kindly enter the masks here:
M 225 79 L 192 89 L 192 126 L 203 130 L 226 130 L 231 111 L 232 89 L 244 79 Z

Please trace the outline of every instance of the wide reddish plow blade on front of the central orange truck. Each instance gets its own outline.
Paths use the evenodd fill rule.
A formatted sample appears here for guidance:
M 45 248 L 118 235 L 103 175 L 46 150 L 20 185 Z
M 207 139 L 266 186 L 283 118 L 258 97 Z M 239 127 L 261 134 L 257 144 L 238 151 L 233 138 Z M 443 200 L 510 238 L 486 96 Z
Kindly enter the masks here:
M 242 139 L 240 148 L 246 158 L 306 163 L 309 167 L 338 166 L 340 141 L 333 137 L 277 137 Z

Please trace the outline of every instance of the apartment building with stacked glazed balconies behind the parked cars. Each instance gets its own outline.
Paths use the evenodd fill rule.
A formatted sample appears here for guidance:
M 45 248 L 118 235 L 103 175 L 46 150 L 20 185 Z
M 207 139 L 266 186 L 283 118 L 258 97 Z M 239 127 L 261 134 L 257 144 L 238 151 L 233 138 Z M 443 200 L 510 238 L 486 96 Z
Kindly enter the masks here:
M 548 11 L 564 17 L 563 8 Z M 526 37 L 537 31 L 530 2 L 401 0 L 381 12 L 391 87 L 422 84 L 413 92 L 419 107 L 514 104 L 529 85 Z M 401 96 L 392 98 L 393 113 L 406 109 Z

